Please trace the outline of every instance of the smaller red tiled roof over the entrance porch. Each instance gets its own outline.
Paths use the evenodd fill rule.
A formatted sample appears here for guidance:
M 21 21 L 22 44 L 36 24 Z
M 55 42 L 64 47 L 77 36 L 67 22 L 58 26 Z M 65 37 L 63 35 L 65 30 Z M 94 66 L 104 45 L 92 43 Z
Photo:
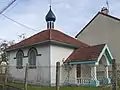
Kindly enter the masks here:
M 105 44 L 76 49 L 65 62 L 97 60 Z

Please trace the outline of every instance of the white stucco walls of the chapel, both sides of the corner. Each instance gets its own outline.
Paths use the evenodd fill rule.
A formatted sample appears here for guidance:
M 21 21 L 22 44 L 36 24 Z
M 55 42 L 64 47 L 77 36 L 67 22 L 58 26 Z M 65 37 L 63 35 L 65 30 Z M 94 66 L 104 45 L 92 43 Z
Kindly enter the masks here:
M 66 60 L 67 57 L 74 51 L 73 48 L 68 48 L 64 46 L 58 45 L 44 45 L 44 46 L 35 46 L 38 54 L 42 54 L 41 56 L 37 56 L 37 68 L 28 70 L 28 81 L 32 83 L 37 82 L 38 80 L 42 82 L 42 84 L 51 83 L 51 85 L 55 85 L 56 82 L 56 62 L 60 62 L 60 83 L 63 84 L 67 78 L 68 72 L 65 70 L 63 65 L 63 59 Z M 22 49 L 24 52 L 24 56 L 27 56 L 28 50 L 30 48 Z M 24 79 L 25 65 L 28 63 L 28 57 L 23 59 L 23 69 L 16 68 L 16 57 L 17 51 L 11 51 L 9 54 L 9 66 L 10 66 L 10 74 L 12 77 L 17 79 Z M 69 81 L 70 83 L 76 82 L 76 65 L 72 66 L 72 69 L 69 72 Z

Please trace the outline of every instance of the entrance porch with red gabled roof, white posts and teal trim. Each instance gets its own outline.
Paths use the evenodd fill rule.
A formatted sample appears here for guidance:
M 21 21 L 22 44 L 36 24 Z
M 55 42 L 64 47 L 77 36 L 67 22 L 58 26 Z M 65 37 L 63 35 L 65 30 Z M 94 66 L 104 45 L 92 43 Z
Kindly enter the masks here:
M 71 60 L 68 64 L 75 67 L 74 78 L 77 85 L 100 86 L 111 83 L 109 72 L 112 59 L 106 44 L 96 45 L 76 50 L 68 58 L 68 61 Z

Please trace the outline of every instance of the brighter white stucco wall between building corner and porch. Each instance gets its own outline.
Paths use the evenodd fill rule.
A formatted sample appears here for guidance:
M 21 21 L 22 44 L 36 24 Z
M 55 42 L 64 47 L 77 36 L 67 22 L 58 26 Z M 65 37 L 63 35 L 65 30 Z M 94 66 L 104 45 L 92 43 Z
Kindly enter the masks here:
M 67 48 L 67 47 L 62 47 L 62 46 L 57 46 L 57 45 L 51 45 L 50 46 L 50 58 L 51 58 L 51 84 L 55 84 L 55 79 L 56 79 L 56 62 L 60 62 L 61 65 L 63 64 L 62 60 L 66 60 L 67 57 L 73 52 L 74 49 L 72 48 Z M 74 69 L 73 69 L 74 70 Z M 74 71 L 71 70 L 70 74 L 75 75 Z M 63 83 L 65 78 L 67 77 L 67 72 L 64 71 L 64 68 L 61 69 L 61 74 L 60 74 L 60 83 Z M 71 76 L 72 77 L 72 76 Z

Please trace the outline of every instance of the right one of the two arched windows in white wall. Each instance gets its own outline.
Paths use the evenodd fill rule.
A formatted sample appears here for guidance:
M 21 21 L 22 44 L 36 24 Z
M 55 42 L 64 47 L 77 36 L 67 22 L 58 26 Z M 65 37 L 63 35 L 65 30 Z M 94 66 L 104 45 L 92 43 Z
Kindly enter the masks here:
M 36 49 L 31 48 L 28 52 L 28 63 L 30 68 L 36 68 L 36 55 L 37 55 Z

